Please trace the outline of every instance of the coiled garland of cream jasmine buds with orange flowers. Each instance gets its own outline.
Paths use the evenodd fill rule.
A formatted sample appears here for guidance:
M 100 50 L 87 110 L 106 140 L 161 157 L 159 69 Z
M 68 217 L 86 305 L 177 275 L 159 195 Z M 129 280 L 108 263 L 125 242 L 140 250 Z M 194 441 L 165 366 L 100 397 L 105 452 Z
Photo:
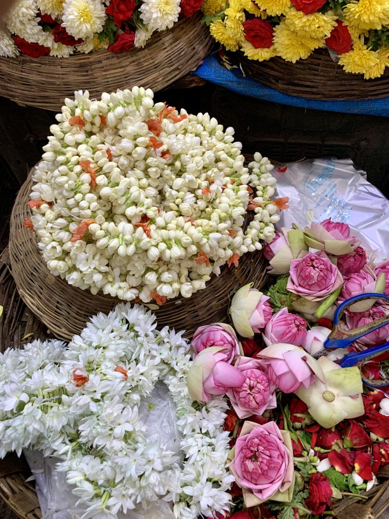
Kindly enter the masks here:
M 29 203 L 54 275 L 93 294 L 160 304 L 190 297 L 220 266 L 261 249 L 280 216 L 267 158 L 256 153 L 246 168 L 232 128 L 153 96 L 134 87 L 66 99 Z

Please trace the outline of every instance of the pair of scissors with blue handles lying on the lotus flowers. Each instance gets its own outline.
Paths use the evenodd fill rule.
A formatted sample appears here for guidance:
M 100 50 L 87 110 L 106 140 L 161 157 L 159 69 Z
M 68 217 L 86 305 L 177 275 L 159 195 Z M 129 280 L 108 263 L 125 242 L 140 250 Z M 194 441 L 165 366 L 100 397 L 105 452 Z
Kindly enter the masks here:
M 389 301 L 389 296 L 376 293 L 360 294 L 354 297 L 350 297 L 350 299 L 347 299 L 346 301 L 341 303 L 335 311 L 334 328 L 332 329 L 332 332 L 330 333 L 328 338 L 325 340 L 324 348 L 347 348 L 348 346 L 351 346 L 351 344 L 355 340 L 360 339 L 361 337 L 364 337 L 365 335 L 374 332 L 375 330 L 378 330 L 386 324 L 389 324 L 389 316 L 386 316 L 381 317 L 381 319 L 377 319 L 377 321 L 364 324 L 363 326 L 358 326 L 355 330 L 345 330 L 344 327 L 341 326 L 339 323 L 340 318 L 343 316 L 344 310 L 349 308 L 354 303 L 358 301 L 363 301 L 364 299 L 386 299 L 387 301 Z M 323 354 L 323 351 L 325 351 L 325 349 L 319 352 L 319 355 Z M 339 365 L 341 367 L 351 367 L 358 365 L 358 367 L 360 368 L 362 367 L 364 362 L 373 359 L 374 357 L 378 357 L 386 351 L 389 351 L 389 341 L 378 346 L 367 348 L 363 351 L 348 353 L 341 359 Z M 366 386 L 369 386 L 371 388 L 389 386 L 389 378 L 386 377 L 383 380 L 366 380 L 362 376 L 362 380 L 364 384 L 366 384 Z

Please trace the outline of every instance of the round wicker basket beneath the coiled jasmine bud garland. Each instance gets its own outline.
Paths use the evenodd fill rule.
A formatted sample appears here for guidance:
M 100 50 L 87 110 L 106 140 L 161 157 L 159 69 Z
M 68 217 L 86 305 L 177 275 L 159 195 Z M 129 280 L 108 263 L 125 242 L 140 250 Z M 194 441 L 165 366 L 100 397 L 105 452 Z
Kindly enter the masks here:
M 84 328 L 90 316 L 107 313 L 122 301 L 108 295 L 94 296 L 50 274 L 38 251 L 37 238 L 22 225 L 25 218 L 31 217 L 27 201 L 32 185 L 30 174 L 12 210 L 9 240 L 12 275 L 25 304 L 51 333 L 68 340 Z M 245 254 L 237 268 L 225 265 L 220 276 L 212 276 L 204 290 L 190 298 L 170 299 L 155 310 L 158 325 L 186 330 L 186 336 L 191 337 L 199 323 L 225 321 L 231 296 L 242 284 L 253 281 L 256 288 L 263 285 L 265 263 L 261 252 L 254 252 Z

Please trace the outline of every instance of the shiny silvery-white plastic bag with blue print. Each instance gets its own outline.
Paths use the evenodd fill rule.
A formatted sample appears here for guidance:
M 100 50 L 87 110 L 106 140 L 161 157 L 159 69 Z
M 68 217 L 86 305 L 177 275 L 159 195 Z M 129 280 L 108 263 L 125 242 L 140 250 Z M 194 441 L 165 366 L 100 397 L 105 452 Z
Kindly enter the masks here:
M 376 262 L 389 257 L 389 201 L 351 159 L 315 159 L 275 167 L 277 193 L 289 197 L 279 227 L 344 222 Z

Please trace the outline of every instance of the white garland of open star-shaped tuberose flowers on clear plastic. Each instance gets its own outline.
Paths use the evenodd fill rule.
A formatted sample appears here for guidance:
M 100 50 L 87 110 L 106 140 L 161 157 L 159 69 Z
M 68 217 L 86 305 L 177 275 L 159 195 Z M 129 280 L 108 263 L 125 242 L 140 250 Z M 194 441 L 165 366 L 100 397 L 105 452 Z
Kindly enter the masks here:
M 143 307 L 118 305 L 92 318 L 66 349 L 35 341 L 0 357 L 1 456 L 31 446 L 61 457 L 83 517 L 113 519 L 158 499 L 182 519 L 228 510 L 227 404 L 192 402 L 189 347 L 180 333 L 155 326 Z M 177 406 L 182 463 L 147 440 L 138 417 L 158 380 Z

